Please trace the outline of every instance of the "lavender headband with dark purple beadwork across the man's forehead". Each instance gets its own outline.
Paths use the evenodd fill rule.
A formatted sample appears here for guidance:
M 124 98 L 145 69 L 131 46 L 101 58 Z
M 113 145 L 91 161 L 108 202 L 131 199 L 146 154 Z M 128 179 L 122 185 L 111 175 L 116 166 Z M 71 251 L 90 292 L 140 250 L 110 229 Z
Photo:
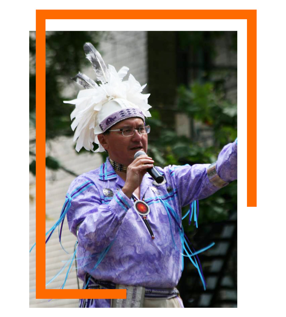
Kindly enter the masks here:
M 114 126 L 117 122 L 133 118 L 133 117 L 139 117 L 143 120 L 145 124 L 145 117 L 143 112 L 140 109 L 137 108 L 124 108 L 117 112 L 114 112 L 108 117 L 107 119 L 102 120 L 99 123 L 100 129 L 102 132 L 105 132 L 110 127 Z

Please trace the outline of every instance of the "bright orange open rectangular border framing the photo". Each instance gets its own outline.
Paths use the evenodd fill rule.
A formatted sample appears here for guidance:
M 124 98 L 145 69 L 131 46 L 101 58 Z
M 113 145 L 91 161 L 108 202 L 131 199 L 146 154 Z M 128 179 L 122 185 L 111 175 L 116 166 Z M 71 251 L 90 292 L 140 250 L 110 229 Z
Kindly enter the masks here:
M 100 13 L 99 13 L 100 12 Z M 45 288 L 45 22 L 46 19 L 246 19 L 247 207 L 256 207 L 256 10 L 36 10 L 36 298 L 126 298 L 126 290 Z

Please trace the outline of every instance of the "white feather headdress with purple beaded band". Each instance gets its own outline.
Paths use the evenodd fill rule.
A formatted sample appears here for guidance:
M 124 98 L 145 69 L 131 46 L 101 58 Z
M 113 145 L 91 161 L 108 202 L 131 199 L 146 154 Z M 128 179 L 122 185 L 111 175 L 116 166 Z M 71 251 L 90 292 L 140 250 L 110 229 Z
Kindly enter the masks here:
M 129 68 L 123 66 L 117 72 L 112 65 L 106 66 L 99 52 L 91 43 L 85 43 L 86 58 L 91 62 L 100 84 L 82 73 L 72 78 L 84 90 L 80 90 L 77 99 L 64 101 L 75 105 L 71 113 L 73 140 L 77 140 L 76 150 L 84 147 L 93 151 L 93 142 L 99 145 L 94 152 L 104 152 L 98 141 L 98 134 L 105 132 L 115 123 L 130 117 L 150 117 L 148 105 L 150 94 L 142 94 L 146 84 L 141 86 L 129 75 L 127 81 L 122 79 Z

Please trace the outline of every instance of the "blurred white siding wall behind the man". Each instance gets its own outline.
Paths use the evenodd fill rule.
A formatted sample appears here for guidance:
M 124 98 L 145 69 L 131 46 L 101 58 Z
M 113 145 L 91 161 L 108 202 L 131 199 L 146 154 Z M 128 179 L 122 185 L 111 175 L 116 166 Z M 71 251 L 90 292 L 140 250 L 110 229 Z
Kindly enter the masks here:
M 147 81 L 147 34 L 137 31 L 108 32 L 100 41 L 99 51 L 107 64 L 113 65 L 118 71 L 122 66 L 130 68 L 130 73 L 140 82 L 141 85 Z M 84 52 L 83 52 L 84 54 Z M 91 67 L 83 72 L 95 79 Z M 127 79 L 127 77 L 126 77 Z M 75 97 L 76 92 L 74 92 Z M 34 131 L 30 132 L 30 139 L 33 138 Z M 35 150 L 35 149 L 34 149 Z M 60 137 L 46 144 L 46 156 L 51 155 L 57 158 L 67 169 L 76 174 L 82 174 L 100 166 L 101 156 L 92 152 L 85 152 L 78 155 L 74 150 L 72 138 Z M 65 201 L 67 189 L 74 179 L 65 171 L 50 171 L 46 169 L 46 230 L 58 220 L 60 211 Z M 30 196 L 35 198 L 35 178 L 30 177 Z M 30 247 L 36 241 L 35 231 L 35 199 L 30 203 Z M 76 238 L 69 232 L 67 223 L 64 223 L 62 234 L 62 244 L 69 252 L 73 252 Z M 78 300 L 74 299 L 36 299 L 35 293 L 35 256 L 36 249 L 30 254 L 30 307 L 78 307 Z M 60 268 L 65 264 L 71 255 L 62 250 L 58 242 L 58 231 L 55 230 L 53 236 L 46 246 L 46 282 L 48 282 Z M 66 271 L 65 271 L 66 272 Z M 59 288 L 65 279 L 62 273 L 51 282 L 46 288 Z M 80 287 L 82 282 L 80 281 Z M 67 279 L 65 288 L 78 288 L 75 269 L 71 271 Z

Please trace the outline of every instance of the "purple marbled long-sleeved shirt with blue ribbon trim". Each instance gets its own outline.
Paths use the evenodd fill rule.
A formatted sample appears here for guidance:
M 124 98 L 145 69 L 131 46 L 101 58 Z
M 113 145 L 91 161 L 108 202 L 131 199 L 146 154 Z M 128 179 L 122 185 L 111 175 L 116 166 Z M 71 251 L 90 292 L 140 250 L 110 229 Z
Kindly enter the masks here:
M 68 190 L 67 197 L 72 199 L 67 219 L 74 235 L 78 230 L 79 278 L 84 280 L 87 272 L 97 280 L 116 284 L 174 288 L 182 270 L 181 241 L 178 227 L 173 218 L 170 224 L 162 200 L 181 219 L 183 206 L 219 190 L 209 181 L 208 166 L 157 167 L 166 179 L 160 186 L 153 184 L 149 174 L 144 175 L 140 199 L 144 196 L 150 207 L 147 219 L 155 236 L 153 240 L 142 216 L 134 209 L 133 200 L 122 192 L 124 181 L 108 159 L 99 168 L 78 176 Z M 216 171 L 226 182 L 237 179 L 237 141 L 222 149 Z M 110 189 L 113 196 L 108 197 L 111 191 L 106 196 L 104 192 L 108 191 L 104 189 Z M 99 254 L 110 245 L 102 262 L 93 269 Z

